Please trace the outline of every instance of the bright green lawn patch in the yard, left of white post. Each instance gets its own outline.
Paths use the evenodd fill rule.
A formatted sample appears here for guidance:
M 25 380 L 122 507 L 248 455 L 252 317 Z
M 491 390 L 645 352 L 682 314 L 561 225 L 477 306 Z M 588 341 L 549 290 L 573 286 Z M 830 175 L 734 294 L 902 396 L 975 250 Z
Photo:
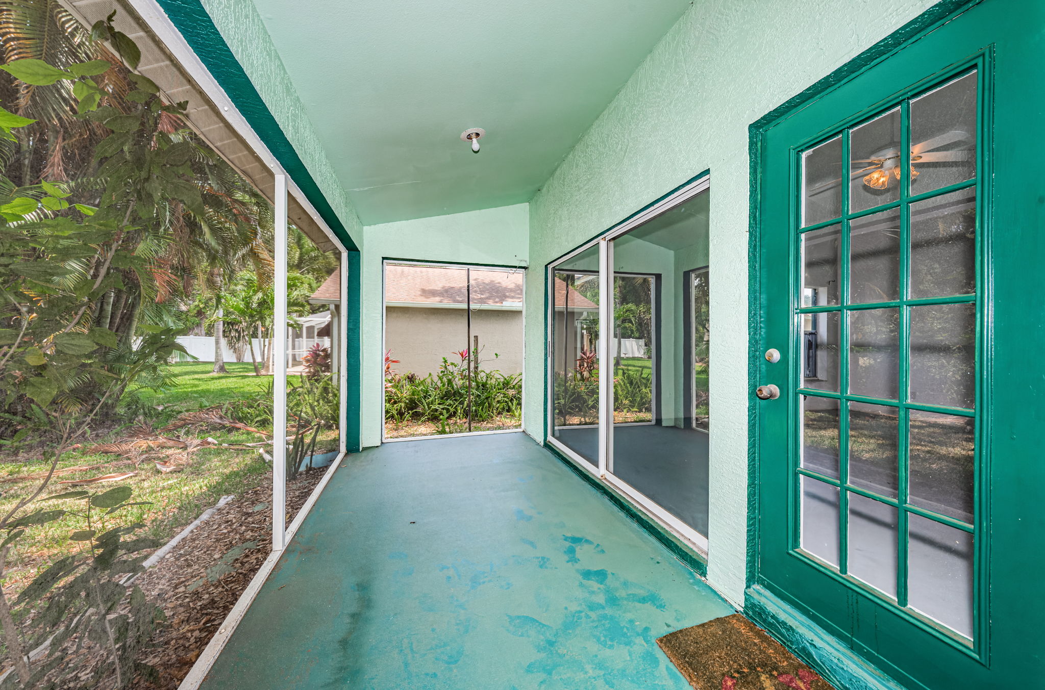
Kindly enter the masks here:
M 228 374 L 211 374 L 213 362 L 178 362 L 171 366 L 178 376 L 177 385 L 163 390 L 142 388 L 138 396 L 146 405 L 173 407 L 172 413 L 252 398 L 272 382 L 271 376 L 254 376 L 250 362 L 226 362 Z

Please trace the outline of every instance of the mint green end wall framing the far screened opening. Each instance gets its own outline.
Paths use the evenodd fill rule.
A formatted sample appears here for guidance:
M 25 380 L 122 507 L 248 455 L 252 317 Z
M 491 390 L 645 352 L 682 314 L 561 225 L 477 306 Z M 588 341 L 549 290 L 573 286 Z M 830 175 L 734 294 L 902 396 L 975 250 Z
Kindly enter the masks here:
M 381 377 L 385 356 L 381 350 L 384 259 L 526 266 L 529 222 L 528 205 L 516 204 L 496 209 L 367 225 L 364 229 L 364 447 L 376 446 L 381 441 L 381 399 L 385 395 Z M 528 275 L 527 282 L 531 280 L 531 276 Z M 543 372 L 540 372 L 537 375 L 542 374 Z

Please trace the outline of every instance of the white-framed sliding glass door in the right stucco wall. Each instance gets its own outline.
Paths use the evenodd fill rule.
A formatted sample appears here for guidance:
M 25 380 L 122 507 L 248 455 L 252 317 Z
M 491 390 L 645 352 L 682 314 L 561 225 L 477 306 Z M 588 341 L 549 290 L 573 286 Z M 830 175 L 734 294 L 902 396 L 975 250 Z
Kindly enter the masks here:
M 707 210 L 703 179 L 549 268 L 550 445 L 699 549 Z

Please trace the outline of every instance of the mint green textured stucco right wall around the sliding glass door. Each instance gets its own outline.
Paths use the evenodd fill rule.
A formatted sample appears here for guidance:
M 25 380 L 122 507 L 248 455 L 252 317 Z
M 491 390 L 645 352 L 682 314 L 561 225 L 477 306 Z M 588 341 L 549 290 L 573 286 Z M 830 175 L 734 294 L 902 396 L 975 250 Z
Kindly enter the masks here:
M 540 420 L 540 267 L 711 169 L 709 581 L 743 600 L 747 549 L 748 125 L 932 0 L 698 0 L 530 203 L 527 419 Z M 531 423 L 536 437 L 542 429 Z

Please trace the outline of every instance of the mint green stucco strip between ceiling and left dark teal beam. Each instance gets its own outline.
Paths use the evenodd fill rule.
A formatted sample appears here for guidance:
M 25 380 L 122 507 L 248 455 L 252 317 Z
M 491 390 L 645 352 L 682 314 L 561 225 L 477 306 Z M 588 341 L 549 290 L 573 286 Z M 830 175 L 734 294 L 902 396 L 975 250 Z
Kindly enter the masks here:
M 214 26 L 308 168 L 352 241 L 363 247 L 363 224 L 316 136 L 301 98 L 253 2 L 201 0 Z

